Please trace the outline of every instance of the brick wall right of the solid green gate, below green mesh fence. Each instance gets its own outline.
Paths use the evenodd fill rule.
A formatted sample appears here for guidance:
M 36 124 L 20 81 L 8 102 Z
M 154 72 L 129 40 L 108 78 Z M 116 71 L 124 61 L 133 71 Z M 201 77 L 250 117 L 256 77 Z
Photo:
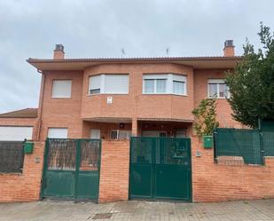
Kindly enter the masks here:
M 213 160 L 213 148 L 205 149 L 198 138 L 192 138 L 193 201 L 274 198 L 274 157 L 266 157 L 263 166 L 226 166 Z

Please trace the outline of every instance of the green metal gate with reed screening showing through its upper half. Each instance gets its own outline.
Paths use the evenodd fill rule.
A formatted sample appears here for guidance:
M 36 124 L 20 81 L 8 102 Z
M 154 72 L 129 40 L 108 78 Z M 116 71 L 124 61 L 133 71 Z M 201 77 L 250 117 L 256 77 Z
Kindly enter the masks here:
M 41 198 L 98 200 L 101 141 L 46 140 Z

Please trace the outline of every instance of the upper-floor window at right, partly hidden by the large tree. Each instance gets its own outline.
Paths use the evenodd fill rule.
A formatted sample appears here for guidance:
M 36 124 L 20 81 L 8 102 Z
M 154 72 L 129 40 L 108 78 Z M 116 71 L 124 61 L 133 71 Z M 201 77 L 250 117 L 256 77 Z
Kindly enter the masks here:
M 208 98 L 228 99 L 231 94 L 223 79 L 211 79 L 207 83 Z

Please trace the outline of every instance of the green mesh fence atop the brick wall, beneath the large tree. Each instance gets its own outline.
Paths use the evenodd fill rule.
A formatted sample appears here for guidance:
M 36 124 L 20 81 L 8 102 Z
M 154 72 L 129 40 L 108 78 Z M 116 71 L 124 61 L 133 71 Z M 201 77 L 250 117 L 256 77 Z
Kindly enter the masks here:
M 216 129 L 215 162 L 262 165 L 264 156 L 274 156 L 274 124 L 264 125 L 260 130 Z

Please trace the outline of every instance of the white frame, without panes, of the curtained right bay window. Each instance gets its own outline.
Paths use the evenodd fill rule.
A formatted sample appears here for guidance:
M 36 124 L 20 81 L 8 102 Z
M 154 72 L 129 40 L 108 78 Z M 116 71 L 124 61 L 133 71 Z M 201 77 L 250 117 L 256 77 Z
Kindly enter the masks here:
M 156 80 L 167 80 L 166 83 L 166 92 L 157 93 L 156 90 Z M 145 92 L 145 80 L 154 80 L 153 86 L 153 92 L 148 93 Z M 174 93 L 173 92 L 173 82 L 182 82 L 184 83 L 184 93 Z M 179 96 L 187 96 L 187 78 L 185 75 L 179 75 L 179 74 L 144 74 L 143 75 L 143 94 L 145 95 L 152 95 L 152 94 L 174 94 Z

